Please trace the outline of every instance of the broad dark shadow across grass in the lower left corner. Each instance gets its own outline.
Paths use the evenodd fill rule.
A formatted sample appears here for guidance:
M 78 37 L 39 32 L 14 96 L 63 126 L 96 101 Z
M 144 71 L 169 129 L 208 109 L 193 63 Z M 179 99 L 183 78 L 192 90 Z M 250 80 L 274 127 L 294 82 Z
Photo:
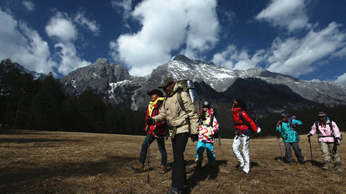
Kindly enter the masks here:
M 92 157 L 92 156 L 91 156 Z M 47 164 L 40 167 L 18 166 L 3 169 L 0 172 L 0 193 L 16 193 L 23 185 L 42 182 L 55 177 L 85 177 L 100 174 L 117 175 L 122 173 L 125 164 L 134 161 L 134 157 L 109 156 L 102 161 L 66 162 Z

